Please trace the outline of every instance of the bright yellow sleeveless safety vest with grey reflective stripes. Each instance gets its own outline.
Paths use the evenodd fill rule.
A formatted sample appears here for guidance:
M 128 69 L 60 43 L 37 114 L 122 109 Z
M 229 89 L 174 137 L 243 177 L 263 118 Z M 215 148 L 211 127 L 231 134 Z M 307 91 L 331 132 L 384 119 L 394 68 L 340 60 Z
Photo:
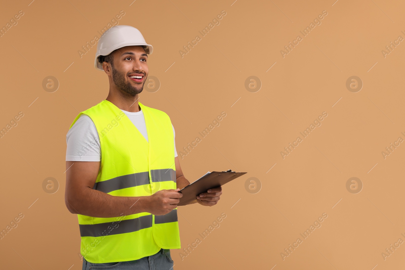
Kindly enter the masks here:
M 72 128 L 82 114 L 96 125 L 101 164 L 93 189 L 112 196 L 137 197 L 177 188 L 170 118 L 163 111 L 138 103 L 149 142 L 108 100 L 79 113 L 70 125 Z M 180 249 L 177 208 L 159 216 L 143 212 L 108 218 L 77 217 L 81 254 L 92 263 L 131 261 L 156 254 L 160 248 Z

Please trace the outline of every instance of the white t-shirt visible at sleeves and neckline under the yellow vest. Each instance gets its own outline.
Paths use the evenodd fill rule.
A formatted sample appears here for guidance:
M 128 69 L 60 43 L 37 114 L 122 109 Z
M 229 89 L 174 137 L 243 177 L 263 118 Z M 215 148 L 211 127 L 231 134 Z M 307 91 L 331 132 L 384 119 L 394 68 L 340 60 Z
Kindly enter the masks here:
M 127 112 L 123 111 L 126 116 L 134 123 L 135 127 L 148 140 L 146 132 L 145 117 L 143 111 Z M 175 128 L 173 127 L 173 136 L 175 136 Z M 177 157 L 176 141 L 175 157 Z M 101 161 L 100 138 L 96 129 L 96 125 L 88 115 L 81 115 L 75 124 L 66 134 L 66 161 Z

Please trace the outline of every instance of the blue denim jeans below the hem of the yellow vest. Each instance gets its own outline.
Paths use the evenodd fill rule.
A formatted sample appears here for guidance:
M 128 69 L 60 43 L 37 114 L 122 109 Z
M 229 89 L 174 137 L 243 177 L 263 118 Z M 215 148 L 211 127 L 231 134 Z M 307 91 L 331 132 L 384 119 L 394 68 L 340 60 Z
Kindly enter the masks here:
M 173 270 L 170 249 L 160 249 L 156 254 L 133 261 L 107 262 L 94 264 L 83 257 L 82 270 L 115 269 L 115 270 Z

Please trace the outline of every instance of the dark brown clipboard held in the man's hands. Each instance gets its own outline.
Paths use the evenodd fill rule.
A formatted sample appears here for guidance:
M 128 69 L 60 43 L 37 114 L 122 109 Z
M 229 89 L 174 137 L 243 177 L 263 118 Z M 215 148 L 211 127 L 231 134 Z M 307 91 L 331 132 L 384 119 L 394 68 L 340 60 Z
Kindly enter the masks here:
M 199 179 L 179 190 L 183 197 L 179 198 L 177 206 L 186 205 L 197 199 L 200 193 L 207 192 L 208 189 L 220 187 L 247 172 L 232 172 L 232 170 L 222 172 L 207 172 Z

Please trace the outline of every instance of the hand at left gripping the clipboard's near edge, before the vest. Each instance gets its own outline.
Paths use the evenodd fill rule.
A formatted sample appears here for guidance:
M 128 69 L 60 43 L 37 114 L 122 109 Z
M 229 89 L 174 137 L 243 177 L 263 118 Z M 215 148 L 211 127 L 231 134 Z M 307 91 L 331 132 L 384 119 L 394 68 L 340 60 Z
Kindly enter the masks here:
M 153 193 L 149 196 L 149 213 L 159 216 L 166 215 L 171 210 L 177 208 L 179 203 L 179 198 L 183 197 L 183 194 L 179 191 L 180 189 L 162 189 Z

